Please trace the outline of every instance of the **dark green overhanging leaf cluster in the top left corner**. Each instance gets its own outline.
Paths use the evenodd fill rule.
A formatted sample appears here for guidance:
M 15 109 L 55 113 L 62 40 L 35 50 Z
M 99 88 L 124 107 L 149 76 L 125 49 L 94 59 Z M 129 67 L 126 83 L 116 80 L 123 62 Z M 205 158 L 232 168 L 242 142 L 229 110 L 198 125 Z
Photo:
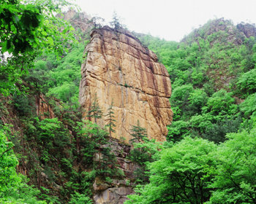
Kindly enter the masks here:
M 38 7 L 32 4 L 4 2 L 0 9 L 1 52 L 12 55 L 31 51 L 35 31 L 42 20 Z

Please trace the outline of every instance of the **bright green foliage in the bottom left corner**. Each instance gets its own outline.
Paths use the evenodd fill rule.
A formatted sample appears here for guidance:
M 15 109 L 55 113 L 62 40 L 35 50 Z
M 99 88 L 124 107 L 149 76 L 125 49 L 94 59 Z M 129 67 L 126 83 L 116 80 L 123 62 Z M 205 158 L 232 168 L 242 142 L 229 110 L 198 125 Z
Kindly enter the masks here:
M 0 202 L 46 204 L 39 201 L 39 190 L 26 184 L 25 176 L 16 173 L 18 159 L 15 156 L 11 141 L 7 141 L 8 127 L 0 129 Z

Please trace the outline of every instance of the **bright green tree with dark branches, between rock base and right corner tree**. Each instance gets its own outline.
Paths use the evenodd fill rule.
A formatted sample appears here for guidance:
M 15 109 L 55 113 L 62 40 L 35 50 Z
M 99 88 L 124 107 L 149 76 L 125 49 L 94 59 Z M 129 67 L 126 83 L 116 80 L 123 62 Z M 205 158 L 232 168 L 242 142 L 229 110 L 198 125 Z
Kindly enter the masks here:
M 203 139 L 184 138 L 160 152 L 150 165 L 150 183 L 135 189 L 125 203 L 203 203 L 211 196 L 207 188 L 215 166 L 211 156 L 217 146 Z

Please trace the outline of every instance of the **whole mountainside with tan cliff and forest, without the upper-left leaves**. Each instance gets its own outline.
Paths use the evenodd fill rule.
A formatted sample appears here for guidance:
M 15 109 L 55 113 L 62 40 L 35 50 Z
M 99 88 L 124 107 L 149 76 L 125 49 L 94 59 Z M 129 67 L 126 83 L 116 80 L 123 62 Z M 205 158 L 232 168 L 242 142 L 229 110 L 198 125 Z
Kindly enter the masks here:
M 253 203 L 254 25 L 209 20 L 167 42 L 64 19 L 79 44 L 37 57 L 0 98 L 3 202 Z

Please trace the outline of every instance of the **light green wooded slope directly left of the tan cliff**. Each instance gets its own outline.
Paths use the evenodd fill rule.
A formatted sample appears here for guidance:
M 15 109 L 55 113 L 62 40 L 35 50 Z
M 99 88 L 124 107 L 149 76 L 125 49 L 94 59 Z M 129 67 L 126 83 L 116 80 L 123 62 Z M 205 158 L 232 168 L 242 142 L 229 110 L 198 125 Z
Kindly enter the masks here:
M 74 44 L 61 59 L 56 58 L 53 52 L 45 53 L 36 60 L 34 68 L 29 70 L 29 75 L 23 80 L 39 92 L 78 106 L 80 66 L 87 43 Z

